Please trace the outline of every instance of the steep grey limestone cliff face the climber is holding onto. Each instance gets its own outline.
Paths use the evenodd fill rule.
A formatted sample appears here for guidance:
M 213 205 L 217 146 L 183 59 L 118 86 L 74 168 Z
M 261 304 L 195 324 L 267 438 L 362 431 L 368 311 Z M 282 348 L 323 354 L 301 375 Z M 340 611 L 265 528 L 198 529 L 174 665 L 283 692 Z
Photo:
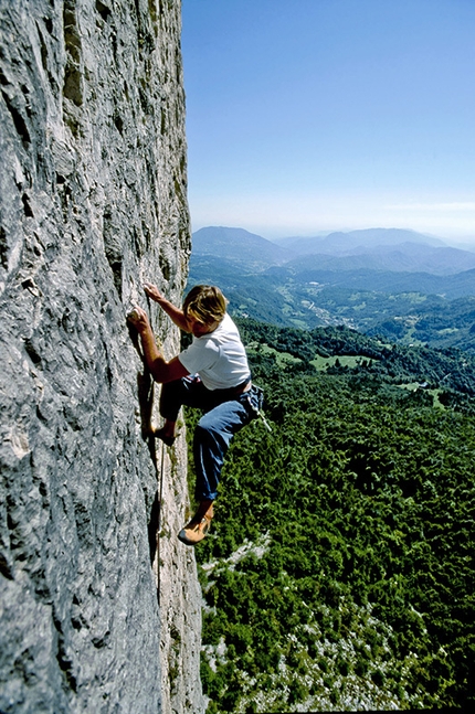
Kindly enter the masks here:
M 184 447 L 125 321 L 177 351 L 141 284 L 180 300 L 190 251 L 180 10 L 0 0 L 2 712 L 203 708 Z

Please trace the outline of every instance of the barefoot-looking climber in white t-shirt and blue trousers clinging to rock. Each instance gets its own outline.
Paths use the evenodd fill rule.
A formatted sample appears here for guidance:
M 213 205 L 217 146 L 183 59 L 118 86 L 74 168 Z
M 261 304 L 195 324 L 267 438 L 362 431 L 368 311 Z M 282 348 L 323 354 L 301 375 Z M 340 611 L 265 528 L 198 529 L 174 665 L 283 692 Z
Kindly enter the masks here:
M 198 509 L 178 537 L 196 545 L 207 535 L 214 515 L 213 502 L 230 441 L 256 418 L 260 393 L 251 383 L 247 356 L 239 331 L 226 312 L 226 299 L 214 286 L 190 290 L 182 308 L 169 302 L 155 285 L 146 294 L 165 310 L 180 330 L 191 332 L 191 345 L 169 362 L 158 348 L 147 313 L 135 308 L 128 320 L 138 330 L 148 369 L 161 383 L 160 415 L 165 424 L 152 429 L 167 446 L 176 438 L 182 405 L 204 412 L 193 435 Z

